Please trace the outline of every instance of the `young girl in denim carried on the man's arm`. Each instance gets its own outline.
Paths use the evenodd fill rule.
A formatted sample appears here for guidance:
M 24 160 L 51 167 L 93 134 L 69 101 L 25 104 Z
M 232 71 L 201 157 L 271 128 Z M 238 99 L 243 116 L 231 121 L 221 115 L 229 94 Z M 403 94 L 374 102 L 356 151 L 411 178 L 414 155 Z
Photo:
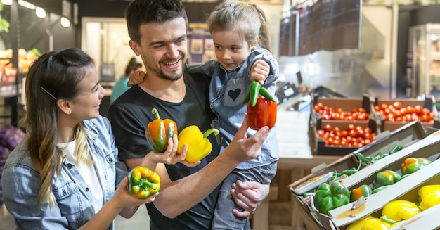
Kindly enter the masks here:
M 253 80 L 273 94 L 278 78 L 278 63 L 269 49 L 268 24 L 264 11 L 255 4 L 224 1 L 209 15 L 208 27 L 214 41 L 217 60 L 201 66 L 190 66 L 187 72 L 211 75 L 209 101 L 216 114 L 214 127 L 222 136 L 221 150 L 228 146 L 237 132 L 247 106 L 242 104 Z M 264 66 L 268 66 L 268 77 Z M 254 131 L 249 130 L 248 136 Z M 278 141 L 273 127 L 263 144 L 261 155 L 242 162 L 224 180 L 217 201 L 212 229 L 244 229 L 245 219 L 233 215 L 238 208 L 231 198 L 235 181 L 258 181 L 268 184 L 276 174 Z

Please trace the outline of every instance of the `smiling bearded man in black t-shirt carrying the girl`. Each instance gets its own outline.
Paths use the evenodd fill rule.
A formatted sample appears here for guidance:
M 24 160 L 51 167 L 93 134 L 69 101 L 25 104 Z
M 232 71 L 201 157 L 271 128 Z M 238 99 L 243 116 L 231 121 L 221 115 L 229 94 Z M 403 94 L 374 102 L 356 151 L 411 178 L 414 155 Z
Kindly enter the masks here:
M 183 77 L 188 55 L 188 20 L 181 1 L 135 0 L 127 7 L 125 15 L 130 47 L 141 56 L 148 72 L 143 82 L 120 96 L 109 109 L 119 158 L 131 169 L 140 165 L 145 155 L 161 154 L 154 153 L 145 139 L 145 128 L 155 119 L 151 114 L 153 108 L 159 111 L 162 119 L 174 120 L 179 131 L 195 124 L 205 132 L 214 114 L 207 96 L 209 77 Z M 264 127 L 246 139 L 246 131 L 245 122 L 220 155 L 214 136 L 209 136 L 214 146 L 212 153 L 194 167 L 187 167 L 187 163 L 157 165 L 155 170 L 161 177 L 161 189 L 154 203 L 147 205 L 150 229 L 210 228 L 219 184 L 240 162 L 259 155 L 269 132 L 268 127 Z M 171 146 L 176 144 L 173 139 L 169 141 Z M 267 196 L 268 185 L 256 184 L 246 184 L 252 185 L 249 189 L 235 186 L 235 201 L 246 210 L 235 210 L 235 215 L 249 215 Z M 240 189 L 247 191 L 238 194 Z M 249 224 L 247 229 L 250 229 Z

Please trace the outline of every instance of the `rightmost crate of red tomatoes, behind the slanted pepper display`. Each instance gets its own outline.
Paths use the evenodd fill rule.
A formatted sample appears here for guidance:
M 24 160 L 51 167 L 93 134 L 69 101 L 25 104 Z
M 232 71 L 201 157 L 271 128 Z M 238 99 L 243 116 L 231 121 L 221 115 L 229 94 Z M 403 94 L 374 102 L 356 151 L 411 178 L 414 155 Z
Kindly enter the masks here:
M 436 108 L 431 98 L 425 100 L 375 100 L 375 113 L 384 117 L 382 131 L 394 131 L 408 122 L 418 120 L 425 129 L 432 127 L 437 116 Z

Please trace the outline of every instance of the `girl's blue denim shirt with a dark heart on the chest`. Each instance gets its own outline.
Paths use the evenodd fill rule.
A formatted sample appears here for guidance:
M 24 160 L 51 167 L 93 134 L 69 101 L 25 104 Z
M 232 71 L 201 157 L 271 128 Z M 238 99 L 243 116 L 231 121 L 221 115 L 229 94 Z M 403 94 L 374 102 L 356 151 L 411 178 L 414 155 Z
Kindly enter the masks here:
M 275 81 L 279 75 L 278 63 L 266 49 L 255 49 L 242 65 L 230 72 L 226 71 L 217 60 L 209 60 L 203 65 L 189 65 L 186 68 L 186 72 L 189 73 L 202 73 L 212 76 L 209 84 L 209 103 L 216 114 L 212 124 L 216 129 L 219 129 L 222 137 L 220 151 L 223 151 L 231 143 L 243 122 L 247 112 L 247 105 L 243 105 L 242 101 L 248 93 L 250 83 L 252 82 L 250 70 L 254 62 L 260 59 L 265 60 L 271 68 L 263 87 L 268 89 L 271 94 L 275 94 Z M 247 136 L 253 134 L 255 134 L 254 130 L 247 130 Z M 271 129 L 266 141 L 264 141 L 259 157 L 242 162 L 237 168 L 250 169 L 261 165 L 268 165 L 278 160 L 278 158 L 279 151 L 275 126 Z

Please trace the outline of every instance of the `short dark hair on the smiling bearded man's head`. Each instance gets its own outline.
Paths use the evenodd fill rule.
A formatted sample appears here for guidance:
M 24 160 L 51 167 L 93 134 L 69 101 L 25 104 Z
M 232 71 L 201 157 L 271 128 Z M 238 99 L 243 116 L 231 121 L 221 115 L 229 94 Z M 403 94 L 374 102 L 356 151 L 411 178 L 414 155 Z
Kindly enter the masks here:
M 188 18 L 181 0 L 134 0 L 125 9 L 125 20 L 130 39 L 141 41 L 139 27 L 147 23 L 164 23 L 175 18 Z

